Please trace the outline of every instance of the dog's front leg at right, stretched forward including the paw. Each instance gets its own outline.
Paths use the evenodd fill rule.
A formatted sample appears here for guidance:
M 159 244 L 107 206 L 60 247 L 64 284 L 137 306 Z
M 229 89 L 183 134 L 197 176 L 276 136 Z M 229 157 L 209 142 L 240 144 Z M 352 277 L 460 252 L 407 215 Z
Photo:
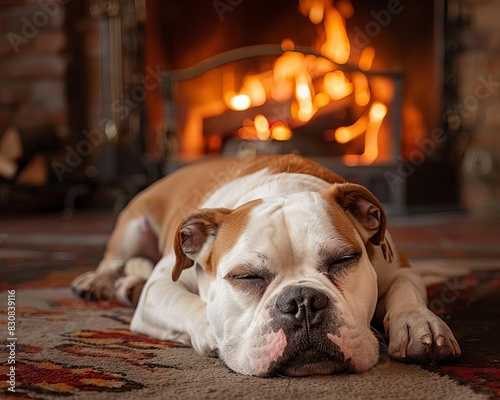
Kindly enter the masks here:
M 394 246 L 395 248 L 395 246 Z M 392 265 L 391 265 L 392 264 Z M 418 273 L 401 253 L 377 268 L 383 277 L 376 316 L 389 337 L 389 354 L 399 360 L 429 363 L 460 355 L 446 323 L 427 308 L 427 292 Z

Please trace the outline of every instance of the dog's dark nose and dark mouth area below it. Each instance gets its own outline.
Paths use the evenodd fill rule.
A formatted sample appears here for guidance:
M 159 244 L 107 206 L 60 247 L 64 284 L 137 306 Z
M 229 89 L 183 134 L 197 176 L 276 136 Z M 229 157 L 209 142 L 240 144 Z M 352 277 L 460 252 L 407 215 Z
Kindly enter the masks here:
M 287 346 L 269 374 L 302 376 L 352 371 L 341 349 L 328 339 L 338 334 L 342 318 L 323 291 L 293 285 L 282 290 L 271 311 L 273 330 L 283 329 Z

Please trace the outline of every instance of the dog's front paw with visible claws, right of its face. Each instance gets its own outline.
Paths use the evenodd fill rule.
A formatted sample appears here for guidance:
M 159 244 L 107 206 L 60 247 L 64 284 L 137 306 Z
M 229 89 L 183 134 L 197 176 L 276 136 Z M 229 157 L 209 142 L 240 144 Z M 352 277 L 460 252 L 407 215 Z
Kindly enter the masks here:
M 461 354 L 448 325 L 427 308 L 389 313 L 384 321 L 391 357 L 427 364 Z

